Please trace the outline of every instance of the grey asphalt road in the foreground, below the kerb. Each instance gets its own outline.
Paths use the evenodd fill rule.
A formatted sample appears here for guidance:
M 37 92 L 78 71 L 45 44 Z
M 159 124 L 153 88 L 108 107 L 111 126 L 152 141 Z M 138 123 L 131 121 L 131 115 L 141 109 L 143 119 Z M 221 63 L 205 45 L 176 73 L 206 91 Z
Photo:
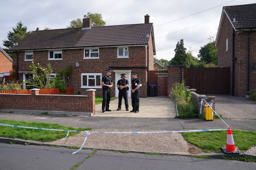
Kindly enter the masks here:
M 255 162 L 236 160 L 201 159 L 188 156 L 156 156 L 140 153 L 120 153 L 82 150 L 72 155 L 74 149 L 10 145 L 0 143 L 0 169 L 4 170 L 69 170 L 82 162 L 76 170 L 253 170 Z M 4 155 L 4 156 L 3 156 Z

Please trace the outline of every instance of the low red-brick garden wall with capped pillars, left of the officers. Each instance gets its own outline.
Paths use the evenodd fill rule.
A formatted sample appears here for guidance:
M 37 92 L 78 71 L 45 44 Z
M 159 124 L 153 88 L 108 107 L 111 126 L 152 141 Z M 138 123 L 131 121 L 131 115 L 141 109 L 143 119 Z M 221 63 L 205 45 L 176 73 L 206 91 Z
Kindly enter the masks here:
M 95 114 L 95 90 L 88 90 L 88 96 L 0 94 L 0 109 L 77 111 Z

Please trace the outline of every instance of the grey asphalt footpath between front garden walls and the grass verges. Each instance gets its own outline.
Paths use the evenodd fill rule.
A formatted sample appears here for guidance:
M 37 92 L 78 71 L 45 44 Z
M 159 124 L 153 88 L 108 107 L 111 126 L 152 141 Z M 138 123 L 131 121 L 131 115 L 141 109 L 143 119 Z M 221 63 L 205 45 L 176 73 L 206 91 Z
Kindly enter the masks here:
M 225 123 L 220 119 L 206 121 L 204 119 L 82 117 L 66 115 L 14 114 L 3 112 L 0 113 L 0 119 L 58 123 L 60 125 L 71 127 L 92 127 L 92 129 L 136 129 L 140 131 L 181 131 L 227 128 Z M 256 119 L 224 119 L 224 121 L 232 130 L 240 129 L 256 131 Z

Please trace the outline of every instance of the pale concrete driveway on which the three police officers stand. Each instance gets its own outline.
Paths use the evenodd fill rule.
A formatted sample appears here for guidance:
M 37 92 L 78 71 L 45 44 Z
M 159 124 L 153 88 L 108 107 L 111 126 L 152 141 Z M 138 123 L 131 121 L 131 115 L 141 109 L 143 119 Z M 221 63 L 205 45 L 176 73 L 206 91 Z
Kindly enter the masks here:
M 122 100 L 122 110 L 118 108 L 118 99 L 110 101 L 109 109 L 102 113 L 102 104 L 95 106 L 95 115 L 101 117 L 149 117 L 149 118 L 174 118 L 176 116 L 175 104 L 170 98 L 164 96 L 140 98 L 140 112 L 130 112 L 132 110 L 131 98 L 128 98 L 129 111 L 125 111 L 124 99 Z

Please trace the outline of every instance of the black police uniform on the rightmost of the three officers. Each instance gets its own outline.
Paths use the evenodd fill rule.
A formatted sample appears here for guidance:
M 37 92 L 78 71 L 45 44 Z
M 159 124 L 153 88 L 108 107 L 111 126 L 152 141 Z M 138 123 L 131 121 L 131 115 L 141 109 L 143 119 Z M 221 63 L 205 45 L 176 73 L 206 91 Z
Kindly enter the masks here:
M 140 84 L 140 78 L 132 79 L 132 89 L 135 89 Z M 132 93 L 132 111 L 139 111 L 140 106 L 140 92 L 139 90 L 135 90 Z

